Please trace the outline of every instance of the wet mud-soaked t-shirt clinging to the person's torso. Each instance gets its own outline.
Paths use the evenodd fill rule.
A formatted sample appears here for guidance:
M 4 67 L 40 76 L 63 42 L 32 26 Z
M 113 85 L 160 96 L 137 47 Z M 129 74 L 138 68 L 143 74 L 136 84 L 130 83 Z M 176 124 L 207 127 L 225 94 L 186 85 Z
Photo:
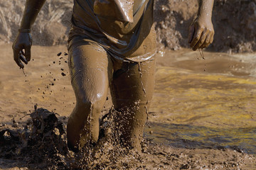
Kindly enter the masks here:
M 74 0 L 70 36 L 87 35 L 117 58 L 148 60 L 156 52 L 153 1 Z

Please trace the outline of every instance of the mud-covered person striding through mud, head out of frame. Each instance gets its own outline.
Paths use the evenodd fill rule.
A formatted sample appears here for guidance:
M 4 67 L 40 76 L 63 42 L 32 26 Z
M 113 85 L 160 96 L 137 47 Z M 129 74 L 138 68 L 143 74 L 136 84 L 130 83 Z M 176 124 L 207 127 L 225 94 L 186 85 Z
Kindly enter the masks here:
M 27 0 L 14 40 L 14 60 L 31 60 L 31 26 L 46 0 Z M 154 0 L 74 0 L 68 39 L 76 106 L 68 120 L 68 147 L 78 151 L 99 136 L 99 117 L 110 87 L 123 145 L 139 149 L 154 91 Z M 199 1 L 188 42 L 193 50 L 213 42 L 213 0 Z M 22 61 L 22 62 L 21 62 Z

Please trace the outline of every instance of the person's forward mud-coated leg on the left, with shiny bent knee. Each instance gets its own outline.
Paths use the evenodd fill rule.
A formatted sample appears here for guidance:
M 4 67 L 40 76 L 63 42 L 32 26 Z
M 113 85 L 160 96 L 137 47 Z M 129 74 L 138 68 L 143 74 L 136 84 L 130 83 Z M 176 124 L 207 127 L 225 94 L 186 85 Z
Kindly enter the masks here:
M 68 147 L 78 150 L 97 142 L 99 117 L 107 98 L 112 62 L 102 47 L 87 43 L 69 50 L 71 82 L 76 106 L 68 119 Z

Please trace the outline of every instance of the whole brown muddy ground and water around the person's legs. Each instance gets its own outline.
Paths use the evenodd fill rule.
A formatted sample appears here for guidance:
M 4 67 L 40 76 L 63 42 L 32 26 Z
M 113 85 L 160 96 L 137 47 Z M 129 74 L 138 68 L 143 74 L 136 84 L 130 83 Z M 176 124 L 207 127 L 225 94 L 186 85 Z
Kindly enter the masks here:
M 63 133 L 75 102 L 65 52 L 33 46 L 23 74 L 11 45 L 0 46 L 0 169 L 255 169 L 255 54 L 160 52 L 142 153 L 119 146 L 107 119 L 107 136 L 74 154 Z M 45 121 L 36 104 L 55 114 Z

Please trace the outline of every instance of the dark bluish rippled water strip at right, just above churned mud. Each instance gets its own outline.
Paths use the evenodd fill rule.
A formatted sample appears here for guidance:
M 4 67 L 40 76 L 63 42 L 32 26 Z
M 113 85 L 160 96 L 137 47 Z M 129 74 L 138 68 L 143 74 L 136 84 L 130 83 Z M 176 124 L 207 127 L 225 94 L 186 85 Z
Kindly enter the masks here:
M 231 148 L 256 155 L 256 128 L 206 128 L 203 126 L 151 123 L 145 135 L 154 142 L 188 149 Z M 150 131 L 153 133 L 150 134 Z

